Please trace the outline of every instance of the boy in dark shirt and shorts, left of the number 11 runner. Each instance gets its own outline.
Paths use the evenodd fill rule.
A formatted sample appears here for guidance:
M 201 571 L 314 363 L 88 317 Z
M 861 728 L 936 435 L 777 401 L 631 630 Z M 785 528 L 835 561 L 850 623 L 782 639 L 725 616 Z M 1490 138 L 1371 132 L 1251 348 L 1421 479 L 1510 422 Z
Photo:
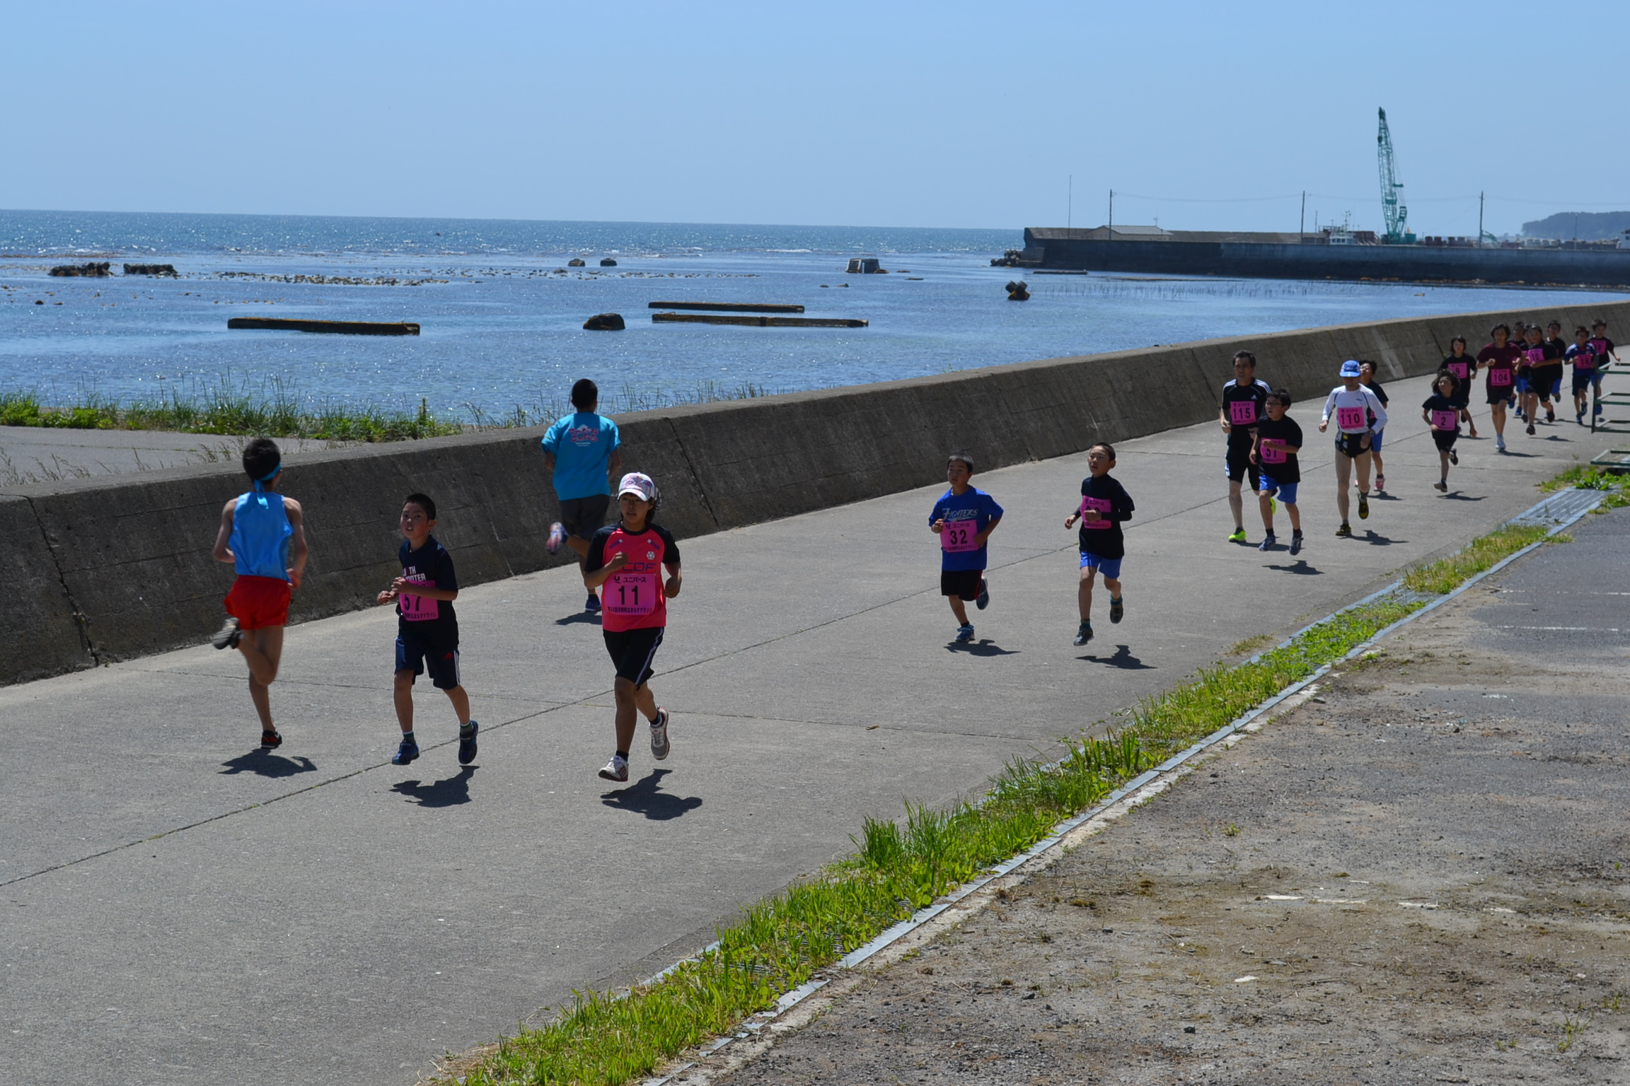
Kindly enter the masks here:
M 419 741 L 412 734 L 412 684 L 425 671 L 430 685 L 447 694 L 458 716 L 458 764 L 476 760 L 476 733 L 481 725 L 469 718 L 469 695 L 458 677 L 458 575 L 453 557 L 435 541 L 435 501 L 429 495 L 409 493 L 403 498 L 401 529 L 406 536 L 396 560 L 401 576 L 378 596 L 378 602 L 396 604 L 396 723 L 403 742 L 391 765 L 408 765 L 419 757 Z

